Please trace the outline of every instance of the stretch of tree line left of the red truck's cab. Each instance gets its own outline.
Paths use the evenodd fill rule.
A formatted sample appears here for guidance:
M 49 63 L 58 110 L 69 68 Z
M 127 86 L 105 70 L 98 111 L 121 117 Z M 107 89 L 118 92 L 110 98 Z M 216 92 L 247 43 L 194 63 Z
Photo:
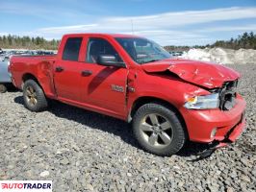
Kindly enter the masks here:
M 60 40 L 46 40 L 43 37 L 30 36 L 0 36 L 0 48 L 6 49 L 58 49 Z

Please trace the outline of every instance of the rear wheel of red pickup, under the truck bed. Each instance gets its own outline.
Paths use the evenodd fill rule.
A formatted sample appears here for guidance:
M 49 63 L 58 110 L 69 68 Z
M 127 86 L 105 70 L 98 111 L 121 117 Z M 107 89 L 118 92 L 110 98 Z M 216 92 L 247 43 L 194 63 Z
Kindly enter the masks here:
M 34 102 L 35 100 L 32 100 L 32 98 L 36 98 L 36 102 Z M 48 107 L 42 88 L 34 80 L 28 80 L 25 82 L 23 86 L 23 99 L 25 107 L 31 111 L 39 112 Z

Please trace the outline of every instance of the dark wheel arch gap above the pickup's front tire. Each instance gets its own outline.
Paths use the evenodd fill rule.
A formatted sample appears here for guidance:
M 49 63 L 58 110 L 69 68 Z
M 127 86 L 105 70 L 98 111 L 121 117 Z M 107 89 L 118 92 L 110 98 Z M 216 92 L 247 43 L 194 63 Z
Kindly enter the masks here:
M 179 118 L 179 120 L 181 121 L 183 127 L 185 128 L 185 133 L 186 133 L 186 137 L 189 138 L 189 132 L 187 129 L 187 125 L 185 122 L 185 119 L 183 117 L 183 115 L 181 114 L 181 112 L 178 110 L 178 108 L 176 108 L 174 105 L 172 105 L 171 103 L 167 102 L 164 99 L 161 98 L 157 98 L 157 97 L 150 97 L 150 96 L 143 96 L 138 98 L 132 105 L 132 108 L 130 109 L 130 113 L 129 113 L 129 118 L 128 118 L 128 122 L 131 122 L 133 119 L 133 116 L 135 115 L 136 111 L 141 108 L 141 106 L 145 105 L 145 104 L 149 104 L 149 103 L 156 103 L 156 104 L 160 104 L 165 106 L 166 108 L 169 108 L 170 110 L 172 110 L 173 112 L 175 112 L 175 114 L 177 115 L 177 117 Z

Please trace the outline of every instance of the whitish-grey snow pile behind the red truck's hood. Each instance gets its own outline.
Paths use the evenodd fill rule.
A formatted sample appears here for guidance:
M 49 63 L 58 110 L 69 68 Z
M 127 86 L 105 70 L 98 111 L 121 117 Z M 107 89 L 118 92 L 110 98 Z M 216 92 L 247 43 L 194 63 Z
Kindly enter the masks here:
M 221 64 L 249 64 L 256 63 L 256 50 L 232 50 L 223 48 L 190 49 L 181 58 L 212 61 Z

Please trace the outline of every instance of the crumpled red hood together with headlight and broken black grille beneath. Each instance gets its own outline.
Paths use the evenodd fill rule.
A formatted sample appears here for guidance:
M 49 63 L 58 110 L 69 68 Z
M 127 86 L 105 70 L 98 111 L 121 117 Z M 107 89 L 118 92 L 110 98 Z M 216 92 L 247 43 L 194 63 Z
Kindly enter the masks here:
M 161 60 L 143 64 L 147 73 L 169 72 L 182 81 L 201 87 L 211 94 L 192 95 L 185 108 L 230 110 L 236 105 L 236 88 L 240 74 L 220 64 L 198 60 Z

